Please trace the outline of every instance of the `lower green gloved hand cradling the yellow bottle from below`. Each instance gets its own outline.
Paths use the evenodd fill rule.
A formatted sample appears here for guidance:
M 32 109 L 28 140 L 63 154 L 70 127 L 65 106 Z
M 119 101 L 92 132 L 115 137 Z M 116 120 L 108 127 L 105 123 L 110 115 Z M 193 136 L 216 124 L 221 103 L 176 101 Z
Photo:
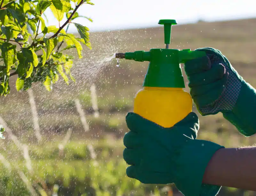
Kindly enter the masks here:
M 130 132 L 124 135 L 126 173 L 144 184 L 171 184 L 185 196 L 214 196 L 220 186 L 204 185 L 204 171 L 220 148 L 196 140 L 198 117 L 191 112 L 171 128 L 161 127 L 135 113 L 128 113 Z

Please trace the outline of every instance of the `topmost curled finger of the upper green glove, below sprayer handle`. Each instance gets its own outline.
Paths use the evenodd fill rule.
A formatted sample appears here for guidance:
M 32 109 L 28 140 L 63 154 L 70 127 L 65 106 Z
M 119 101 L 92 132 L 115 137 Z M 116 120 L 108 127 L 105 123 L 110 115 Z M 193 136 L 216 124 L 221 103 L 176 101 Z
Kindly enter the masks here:
M 208 56 L 192 59 L 184 63 L 184 69 L 187 76 L 201 73 L 211 69 L 211 62 Z

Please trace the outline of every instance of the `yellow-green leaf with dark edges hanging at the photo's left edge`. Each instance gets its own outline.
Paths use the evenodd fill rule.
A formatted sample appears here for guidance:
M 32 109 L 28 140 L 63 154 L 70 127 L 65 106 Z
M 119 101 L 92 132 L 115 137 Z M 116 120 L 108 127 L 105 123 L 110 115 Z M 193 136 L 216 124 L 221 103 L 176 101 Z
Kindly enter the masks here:
M 11 43 L 3 43 L 2 47 L 2 56 L 4 58 L 4 64 L 7 69 L 7 73 L 11 69 L 12 65 L 15 63 L 16 58 L 16 45 L 12 45 Z

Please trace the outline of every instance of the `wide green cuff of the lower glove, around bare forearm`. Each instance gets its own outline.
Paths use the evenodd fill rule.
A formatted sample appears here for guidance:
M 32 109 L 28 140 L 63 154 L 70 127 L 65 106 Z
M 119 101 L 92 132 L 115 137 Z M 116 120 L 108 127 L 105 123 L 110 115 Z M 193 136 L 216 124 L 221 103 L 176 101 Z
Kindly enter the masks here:
M 175 185 L 185 196 L 215 196 L 221 186 L 202 184 L 205 169 L 214 153 L 224 148 L 204 140 L 188 140 L 177 159 Z M 181 171 L 182 172 L 179 172 Z M 185 171 L 184 171 L 185 170 Z M 181 176 L 181 174 L 187 174 Z

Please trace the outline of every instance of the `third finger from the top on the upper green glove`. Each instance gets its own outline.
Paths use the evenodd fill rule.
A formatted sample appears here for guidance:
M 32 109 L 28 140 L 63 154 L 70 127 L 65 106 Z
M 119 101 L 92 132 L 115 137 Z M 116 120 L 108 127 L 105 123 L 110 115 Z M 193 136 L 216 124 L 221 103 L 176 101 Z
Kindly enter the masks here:
M 218 88 L 223 89 L 223 85 L 226 84 L 227 79 L 228 79 L 228 75 L 226 74 L 223 78 L 221 78 L 220 80 L 218 80 L 216 82 L 202 85 L 202 86 L 194 86 L 190 89 L 190 95 L 193 99 L 196 99 L 196 97 L 198 97 L 200 95 L 204 95 L 204 94 L 208 93 L 209 91 L 216 91 L 216 89 L 218 89 Z

